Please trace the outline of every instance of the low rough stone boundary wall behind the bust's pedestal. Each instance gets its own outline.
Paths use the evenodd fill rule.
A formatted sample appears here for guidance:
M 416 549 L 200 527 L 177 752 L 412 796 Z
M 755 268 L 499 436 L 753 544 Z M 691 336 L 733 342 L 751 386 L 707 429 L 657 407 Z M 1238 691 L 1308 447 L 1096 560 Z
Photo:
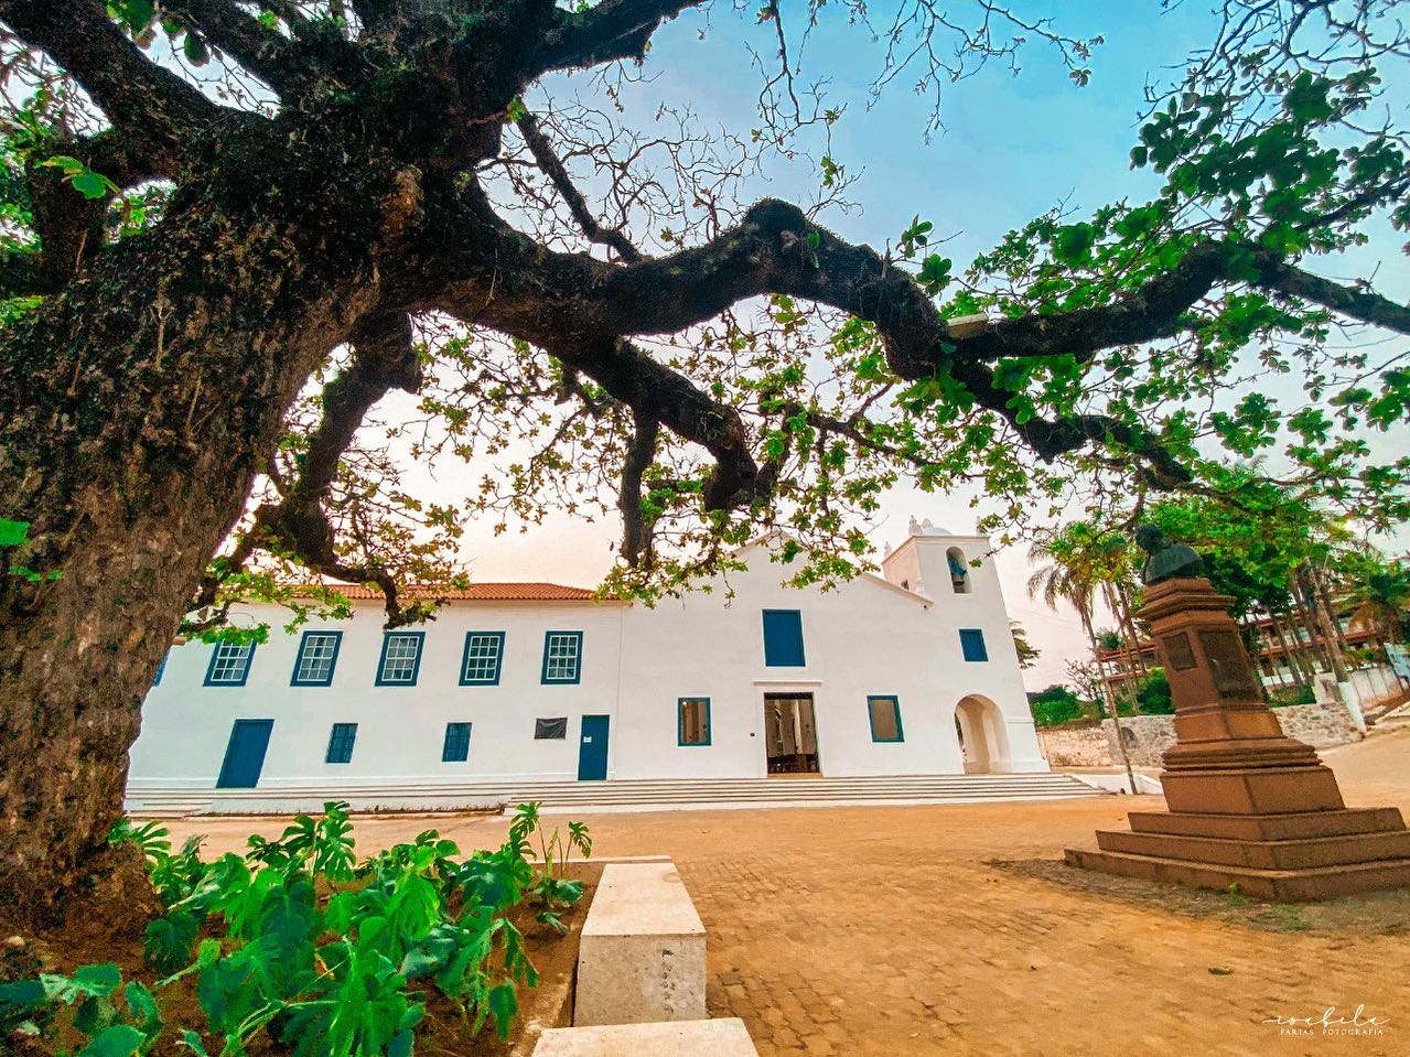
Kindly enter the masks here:
M 1317 748 L 1359 737 L 1341 705 L 1293 705 L 1273 709 L 1273 715 L 1287 737 Z M 1175 744 L 1175 716 L 1122 716 L 1121 730 L 1135 767 L 1159 767 L 1165 750 Z M 1052 767 L 1112 767 L 1121 762 L 1110 719 L 1103 720 L 1100 727 L 1038 727 L 1038 740 Z

